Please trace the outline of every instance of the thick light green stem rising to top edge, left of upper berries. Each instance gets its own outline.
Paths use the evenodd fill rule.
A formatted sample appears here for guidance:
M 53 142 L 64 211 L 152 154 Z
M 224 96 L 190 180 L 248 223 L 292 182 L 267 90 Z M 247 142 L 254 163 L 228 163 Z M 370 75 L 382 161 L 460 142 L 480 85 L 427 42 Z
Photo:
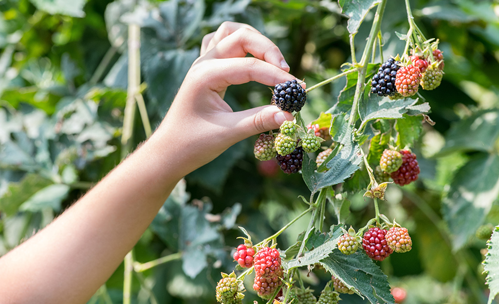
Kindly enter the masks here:
M 355 116 L 357 113 L 357 108 L 359 106 L 360 97 L 364 92 L 365 78 L 367 72 L 367 61 L 369 60 L 369 55 L 372 52 L 373 40 L 376 38 L 377 33 L 381 27 L 381 19 L 383 18 L 383 13 L 385 11 L 387 0 L 381 0 L 381 3 L 378 4 L 378 8 L 376 9 L 376 14 L 374 15 L 373 24 L 371 26 L 371 31 L 369 33 L 369 39 L 366 43 L 366 48 L 364 49 L 364 53 L 362 54 L 362 59 L 360 62 L 359 75 L 357 77 L 357 86 L 355 88 L 355 95 L 353 97 L 352 110 L 350 111 L 350 117 L 348 119 L 348 123 L 350 126 L 355 125 Z

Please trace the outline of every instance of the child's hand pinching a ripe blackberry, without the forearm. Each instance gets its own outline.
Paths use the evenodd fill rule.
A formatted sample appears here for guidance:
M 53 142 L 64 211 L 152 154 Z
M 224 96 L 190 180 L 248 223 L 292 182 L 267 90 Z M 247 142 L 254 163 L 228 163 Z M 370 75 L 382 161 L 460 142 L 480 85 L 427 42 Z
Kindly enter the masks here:
M 245 57 L 248 53 L 254 57 Z M 156 136 L 175 141 L 182 174 L 206 164 L 235 143 L 277 129 L 290 113 L 268 105 L 233 112 L 223 100 L 231 84 L 257 81 L 273 87 L 295 79 L 268 38 L 253 27 L 224 22 L 204 37 L 201 56 L 194 62 Z M 270 92 L 269 92 L 270 102 Z M 154 138 L 154 136 L 153 136 Z M 169 147 L 170 149 L 172 147 Z

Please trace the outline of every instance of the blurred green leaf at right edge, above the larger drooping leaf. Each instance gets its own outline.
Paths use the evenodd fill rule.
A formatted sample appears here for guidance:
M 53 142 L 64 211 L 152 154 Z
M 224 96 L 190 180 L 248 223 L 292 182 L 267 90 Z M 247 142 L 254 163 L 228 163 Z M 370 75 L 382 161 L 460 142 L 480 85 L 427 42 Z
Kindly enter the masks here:
M 492 152 L 498 137 L 499 110 L 479 111 L 451 126 L 438 155 L 455 151 Z

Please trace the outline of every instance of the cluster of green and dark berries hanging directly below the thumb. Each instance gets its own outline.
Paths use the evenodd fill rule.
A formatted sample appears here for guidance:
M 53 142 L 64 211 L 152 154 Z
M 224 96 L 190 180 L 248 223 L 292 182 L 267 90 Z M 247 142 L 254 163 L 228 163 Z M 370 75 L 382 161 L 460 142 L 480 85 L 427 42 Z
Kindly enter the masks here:
M 301 169 L 303 152 L 315 152 L 323 141 L 312 133 L 299 134 L 302 129 L 292 121 L 285 121 L 274 138 L 270 134 L 260 134 L 254 143 L 253 153 L 258 160 L 277 159 L 277 164 L 287 174 Z

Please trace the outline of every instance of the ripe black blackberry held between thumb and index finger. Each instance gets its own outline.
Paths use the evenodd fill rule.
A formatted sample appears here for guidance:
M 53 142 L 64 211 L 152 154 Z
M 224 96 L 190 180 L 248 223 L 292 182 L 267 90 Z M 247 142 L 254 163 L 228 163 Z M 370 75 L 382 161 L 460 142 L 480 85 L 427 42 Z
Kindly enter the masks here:
M 272 95 L 272 102 L 282 111 L 289 113 L 299 112 L 306 99 L 307 93 L 296 79 L 276 84 Z

